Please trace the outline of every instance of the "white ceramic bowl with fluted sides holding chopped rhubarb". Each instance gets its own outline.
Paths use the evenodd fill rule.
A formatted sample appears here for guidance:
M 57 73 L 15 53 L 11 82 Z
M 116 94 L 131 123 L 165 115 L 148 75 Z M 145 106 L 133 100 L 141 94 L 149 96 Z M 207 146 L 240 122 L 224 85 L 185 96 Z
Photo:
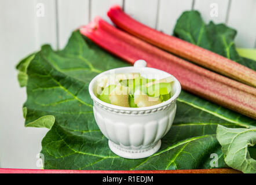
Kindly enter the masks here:
M 125 158 L 144 158 L 156 153 L 161 138 L 170 130 L 176 113 L 176 99 L 181 92 L 180 82 L 174 77 L 172 97 L 158 105 L 145 108 L 126 108 L 103 102 L 96 96 L 97 79 L 109 73 L 139 72 L 141 76 L 162 79 L 169 73 L 146 67 L 138 60 L 134 66 L 111 69 L 100 73 L 89 84 L 93 99 L 93 113 L 101 132 L 108 138 L 109 148 Z

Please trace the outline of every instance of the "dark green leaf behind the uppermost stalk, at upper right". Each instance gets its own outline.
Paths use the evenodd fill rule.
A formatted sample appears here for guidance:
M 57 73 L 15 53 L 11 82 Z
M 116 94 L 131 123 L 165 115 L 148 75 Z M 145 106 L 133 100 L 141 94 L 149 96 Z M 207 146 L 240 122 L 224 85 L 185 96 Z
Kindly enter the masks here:
M 255 61 L 240 57 L 237 53 L 234 43 L 236 30 L 225 24 L 214 24 L 213 21 L 206 24 L 198 11 L 182 13 L 175 25 L 174 35 L 256 70 Z

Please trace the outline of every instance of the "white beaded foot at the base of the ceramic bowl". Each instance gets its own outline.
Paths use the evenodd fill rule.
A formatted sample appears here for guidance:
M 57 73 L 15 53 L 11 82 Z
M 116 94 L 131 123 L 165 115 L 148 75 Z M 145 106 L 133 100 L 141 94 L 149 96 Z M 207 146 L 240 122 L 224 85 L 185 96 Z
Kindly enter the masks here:
M 160 149 L 161 146 L 161 140 L 156 142 L 155 145 L 151 145 L 148 148 L 140 149 L 140 150 L 129 150 L 126 149 L 120 145 L 116 145 L 116 143 L 112 142 L 111 140 L 108 140 L 108 146 L 111 151 L 113 151 L 116 155 L 123 157 L 123 158 L 145 158 L 149 157 L 152 154 L 156 153 Z

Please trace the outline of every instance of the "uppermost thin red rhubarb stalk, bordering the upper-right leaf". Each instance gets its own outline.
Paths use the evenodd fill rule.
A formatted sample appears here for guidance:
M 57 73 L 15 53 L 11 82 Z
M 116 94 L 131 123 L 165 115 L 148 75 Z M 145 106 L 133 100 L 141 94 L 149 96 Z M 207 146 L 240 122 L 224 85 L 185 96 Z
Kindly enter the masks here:
M 149 28 L 128 16 L 118 5 L 112 6 L 108 10 L 108 16 L 117 27 L 131 35 L 222 75 L 256 87 L 256 72 L 246 66 L 192 43 Z

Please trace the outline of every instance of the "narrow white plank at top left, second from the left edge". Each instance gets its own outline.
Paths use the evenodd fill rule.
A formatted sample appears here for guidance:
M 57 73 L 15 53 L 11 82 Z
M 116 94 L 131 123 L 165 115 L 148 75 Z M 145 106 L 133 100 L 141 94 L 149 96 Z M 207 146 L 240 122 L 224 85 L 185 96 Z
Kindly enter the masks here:
M 56 0 L 36 0 L 36 45 L 47 43 L 57 49 Z

